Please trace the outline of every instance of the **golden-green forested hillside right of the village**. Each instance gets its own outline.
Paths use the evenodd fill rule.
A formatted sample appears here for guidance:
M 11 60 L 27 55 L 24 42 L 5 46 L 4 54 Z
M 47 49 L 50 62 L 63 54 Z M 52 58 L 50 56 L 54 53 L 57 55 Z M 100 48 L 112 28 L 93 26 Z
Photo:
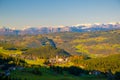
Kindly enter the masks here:
M 120 54 L 113 54 L 107 57 L 93 58 L 93 59 L 83 59 L 81 57 L 71 57 L 71 61 L 76 66 L 80 66 L 83 69 L 92 71 L 98 70 L 101 72 L 108 72 L 109 70 L 112 73 L 120 72 Z

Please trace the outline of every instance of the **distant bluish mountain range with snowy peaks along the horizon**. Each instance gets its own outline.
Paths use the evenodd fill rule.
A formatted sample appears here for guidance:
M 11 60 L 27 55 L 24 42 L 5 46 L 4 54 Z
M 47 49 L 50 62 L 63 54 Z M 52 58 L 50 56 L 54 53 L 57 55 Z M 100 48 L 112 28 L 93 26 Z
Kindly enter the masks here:
M 10 29 L 6 27 L 0 28 L 0 35 L 25 35 L 25 34 L 47 34 L 59 32 L 93 32 L 120 29 L 120 23 L 108 24 L 78 24 L 73 26 L 63 27 L 30 27 L 23 30 Z

